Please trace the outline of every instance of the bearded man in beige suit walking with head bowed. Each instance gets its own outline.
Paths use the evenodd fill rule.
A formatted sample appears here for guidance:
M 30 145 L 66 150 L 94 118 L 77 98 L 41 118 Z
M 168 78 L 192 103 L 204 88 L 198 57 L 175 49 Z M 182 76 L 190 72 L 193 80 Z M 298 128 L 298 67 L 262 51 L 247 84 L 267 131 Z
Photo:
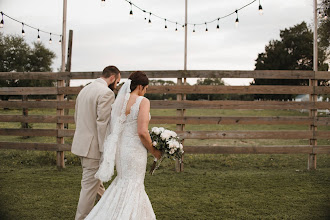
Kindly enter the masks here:
M 115 101 L 112 90 L 119 81 L 119 69 L 107 66 L 102 76 L 85 86 L 76 99 L 76 131 L 71 152 L 80 157 L 83 168 L 76 220 L 88 215 L 94 206 L 96 195 L 102 196 L 105 190 L 102 182 L 94 175 L 99 168 L 111 105 Z

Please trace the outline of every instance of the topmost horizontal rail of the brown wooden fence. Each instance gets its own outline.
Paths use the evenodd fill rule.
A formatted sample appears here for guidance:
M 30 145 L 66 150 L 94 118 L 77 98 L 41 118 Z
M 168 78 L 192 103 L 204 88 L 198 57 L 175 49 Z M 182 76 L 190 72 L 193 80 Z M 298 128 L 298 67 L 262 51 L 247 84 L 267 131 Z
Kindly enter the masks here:
M 128 78 L 133 71 L 121 71 Z M 146 70 L 149 78 L 260 78 L 260 79 L 330 79 L 327 71 L 306 70 Z M 2 72 L 0 79 L 68 80 L 95 79 L 102 72 Z

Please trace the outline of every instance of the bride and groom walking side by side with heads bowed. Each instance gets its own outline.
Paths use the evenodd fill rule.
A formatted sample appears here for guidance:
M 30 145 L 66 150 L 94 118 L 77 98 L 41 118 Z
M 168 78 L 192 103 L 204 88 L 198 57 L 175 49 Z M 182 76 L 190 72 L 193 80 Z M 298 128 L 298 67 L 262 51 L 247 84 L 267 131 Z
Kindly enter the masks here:
M 149 79 L 133 72 L 115 99 L 120 79 L 118 68 L 108 66 L 76 99 L 71 151 L 83 168 L 76 220 L 156 219 L 144 189 L 147 151 L 161 157 L 148 132 Z M 114 166 L 117 176 L 105 190 L 102 182 L 111 180 Z M 101 198 L 94 206 L 96 197 Z

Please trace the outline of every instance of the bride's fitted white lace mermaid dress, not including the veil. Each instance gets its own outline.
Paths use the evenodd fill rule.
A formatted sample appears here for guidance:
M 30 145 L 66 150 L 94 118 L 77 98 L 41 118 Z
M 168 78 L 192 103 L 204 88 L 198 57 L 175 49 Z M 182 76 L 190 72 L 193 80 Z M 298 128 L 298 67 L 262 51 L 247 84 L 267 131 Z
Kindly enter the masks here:
M 123 123 L 116 151 L 117 177 L 104 192 L 86 219 L 156 219 L 144 189 L 147 149 L 137 133 L 139 96 Z M 127 102 L 126 102 L 127 103 Z

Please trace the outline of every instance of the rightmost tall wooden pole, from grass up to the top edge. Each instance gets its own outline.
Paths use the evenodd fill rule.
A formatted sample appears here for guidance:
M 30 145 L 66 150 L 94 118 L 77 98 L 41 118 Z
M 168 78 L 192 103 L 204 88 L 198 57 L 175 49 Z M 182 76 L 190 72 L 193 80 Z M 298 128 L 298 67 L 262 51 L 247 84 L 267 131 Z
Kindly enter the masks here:
M 318 70 L 318 47 L 317 47 L 317 0 L 314 0 L 314 48 L 313 48 L 313 70 L 314 76 L 315 72 Z M 309 86 L 313 87 L 313 94 L 309 96 L 310 102 L 317 101 L 317 95 L 315 94 L 315 87 L 317 86 L 317 80 L 310 79 Z M 317 109 L 313 108 L 309 111 L 309 116 L 314 118 L 313 123 L 310 125 L 310 130 L 313 132 L 313 138 L 309 140 L 309 144 L 313 146 L 313 153 L 309 154 L 308 156 L 308 170 L 315 170 L 316 169 L 316 154 L 315 148 L 317 146 L 317 139 L 315 138 L 315 132 L 317 131 L 317 126 L 315 125 L 315 118 L 317 117 Z

